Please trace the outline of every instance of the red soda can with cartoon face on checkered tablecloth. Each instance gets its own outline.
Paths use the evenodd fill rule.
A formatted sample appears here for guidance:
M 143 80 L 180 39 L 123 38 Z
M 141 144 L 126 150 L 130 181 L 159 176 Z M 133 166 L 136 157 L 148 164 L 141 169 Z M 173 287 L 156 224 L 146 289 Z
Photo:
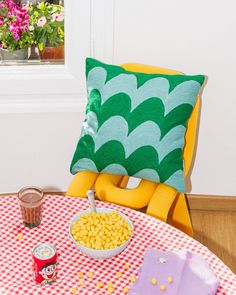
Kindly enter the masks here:
M 38 244 L 33 251 L 33 278 L 42 285 L 56 281 L 57 276 L 57 252 L 48 243 Z

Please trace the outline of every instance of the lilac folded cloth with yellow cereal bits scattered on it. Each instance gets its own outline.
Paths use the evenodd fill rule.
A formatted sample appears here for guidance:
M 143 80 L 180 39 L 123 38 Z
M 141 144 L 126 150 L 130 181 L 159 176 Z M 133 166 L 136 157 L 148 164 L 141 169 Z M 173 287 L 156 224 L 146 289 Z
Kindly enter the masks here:
M 129 295 L 215 295 L 219 280 L 203 257 L 148 249 Z

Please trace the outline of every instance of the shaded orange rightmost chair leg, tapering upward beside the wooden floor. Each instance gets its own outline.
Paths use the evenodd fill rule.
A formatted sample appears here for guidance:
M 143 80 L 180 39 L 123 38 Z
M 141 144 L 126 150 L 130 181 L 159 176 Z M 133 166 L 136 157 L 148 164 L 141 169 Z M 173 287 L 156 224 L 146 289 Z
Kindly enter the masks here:
M 192 222 L 184 194 L 179 194 L 176 198 L 175 203 L 170 209 L 169 220 L 174 227 L 191 237 L 193 236 Z

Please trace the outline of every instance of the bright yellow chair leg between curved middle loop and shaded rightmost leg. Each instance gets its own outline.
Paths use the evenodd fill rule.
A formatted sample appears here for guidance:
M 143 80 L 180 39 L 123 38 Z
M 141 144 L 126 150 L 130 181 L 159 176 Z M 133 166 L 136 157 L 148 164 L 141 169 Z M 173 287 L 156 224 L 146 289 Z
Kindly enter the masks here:
M 146 213 L 167 222 L 169 211 L 177 197 L 177 191 L 160 183 L 151 197 Z

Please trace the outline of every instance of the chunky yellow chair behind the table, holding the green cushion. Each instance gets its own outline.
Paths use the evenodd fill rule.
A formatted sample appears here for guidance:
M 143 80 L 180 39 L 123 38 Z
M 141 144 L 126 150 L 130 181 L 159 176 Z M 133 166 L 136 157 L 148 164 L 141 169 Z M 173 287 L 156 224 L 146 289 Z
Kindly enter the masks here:
M 158 67 L 124 64 L 128 71 L 155 73 L 155 74 L 182 74 L 180 72 Z M 198 125 L 198 115 L 200 98 L 197 98 L 192 115 L 188 121 L 185 134 L 185 147 L 183 151 L 184 175 L 188 176 L 194 155 L 196 133 Z M 192 236 L 192 224 L 183 193 L 178 193 L 176 189 L 165 185 L 157 184 L 147 180 L 141 180 L 134 189 L 127 189 L 127 176 L 99 174 L 95 172 L 78 172 L 68 190 L 69 196 L 86 197 L 86 192 L 91 187 L 95 187 L 97 197 L 102 201 L 113 202 L 122 206 L 134 209 L 147 207 L 146 213 L 164 222 L 169 222 L 183 232 Z

